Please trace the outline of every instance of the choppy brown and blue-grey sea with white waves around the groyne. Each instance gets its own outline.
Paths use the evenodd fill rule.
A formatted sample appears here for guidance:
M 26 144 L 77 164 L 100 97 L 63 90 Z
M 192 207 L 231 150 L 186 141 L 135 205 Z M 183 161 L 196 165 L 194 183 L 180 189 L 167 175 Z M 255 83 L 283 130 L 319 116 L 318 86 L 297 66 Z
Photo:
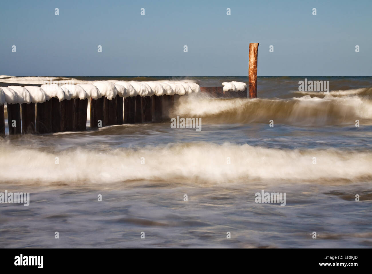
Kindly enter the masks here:
M 299 92 L 305 78 L 330 93 Z M 200 132 L 164 122 L 6 136 L 0 192 L 31 201 L 0 204 L 0 246 L 370 248 L 372 77 L 258 83 L 257 99 L 182 97 L 170 116 L 202 118 Z M 285 192 L 286 205 L 256 203 L 262 190 Z

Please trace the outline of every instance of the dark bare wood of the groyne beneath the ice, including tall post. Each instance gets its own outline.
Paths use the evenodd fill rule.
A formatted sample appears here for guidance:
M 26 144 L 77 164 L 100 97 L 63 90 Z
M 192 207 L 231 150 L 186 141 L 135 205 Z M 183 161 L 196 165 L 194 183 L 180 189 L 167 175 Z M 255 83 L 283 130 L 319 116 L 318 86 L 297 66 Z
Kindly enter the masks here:
M 259 43 L 249 44 L 249 97 L 257 98 L 257 52 Z M 244 97 L 245 91 L 223 92 L 223 87 L 201 87 L 214 97 Z M 106 97 L 90 100 L 90 127 L 121 125 L 123 123 L 161 122 L 169 117 L 174 100 L 180 95 Z M 36 112 L 35 112 L 36 108 Z M 87 124 L 88 99 L 74 98 L 59 101 L 51 98 L 44 103 L 7 104 L 9 135 L 21 133 L 52 133 L 84 131 Z M 22 123 L 21 112 L 22 109 Z M 36 113 L 36 114 L 35 114 Z M 22 128 L 21 128 L 22 127 Z M 5 135 L 4 105 L 0 105 L 0 135 Z

